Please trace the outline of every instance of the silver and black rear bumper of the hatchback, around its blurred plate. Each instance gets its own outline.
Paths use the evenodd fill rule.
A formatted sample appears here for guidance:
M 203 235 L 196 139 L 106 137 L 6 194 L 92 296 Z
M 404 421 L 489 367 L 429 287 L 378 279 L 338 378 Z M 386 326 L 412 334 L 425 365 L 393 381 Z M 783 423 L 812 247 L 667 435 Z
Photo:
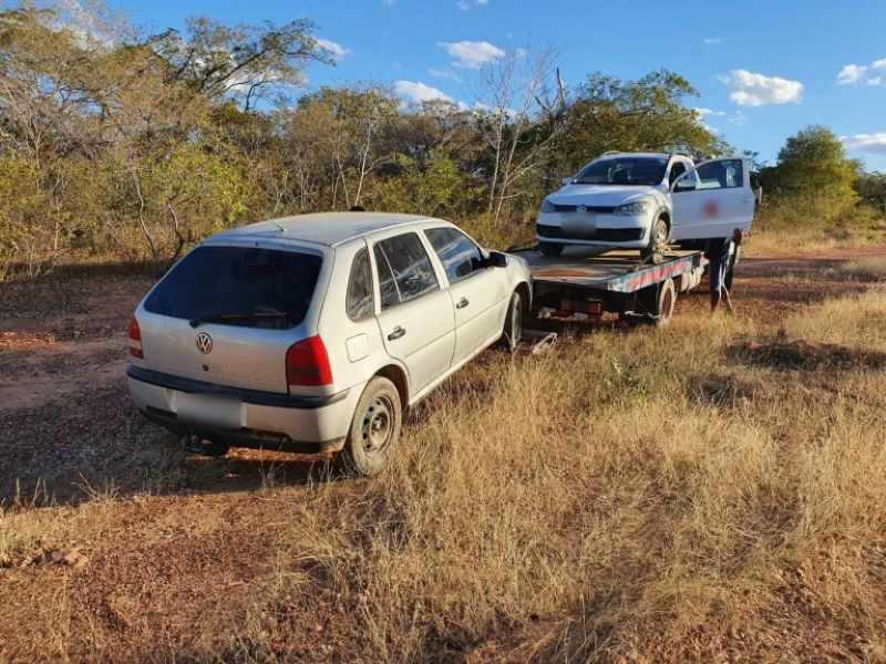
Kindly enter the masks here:
M 357 387 L 329 396 L 238 390 L 135 365 L 127 367 L 126 376 L 133 401 L 151 422 L 179 435 L 196 434 L 224 445 L 282 452 L 341 449 L 361 393 Z M 231 408 L 238 408 L 231 415 L 240 426 L 181 417 L 183 393 L 227 398 Z

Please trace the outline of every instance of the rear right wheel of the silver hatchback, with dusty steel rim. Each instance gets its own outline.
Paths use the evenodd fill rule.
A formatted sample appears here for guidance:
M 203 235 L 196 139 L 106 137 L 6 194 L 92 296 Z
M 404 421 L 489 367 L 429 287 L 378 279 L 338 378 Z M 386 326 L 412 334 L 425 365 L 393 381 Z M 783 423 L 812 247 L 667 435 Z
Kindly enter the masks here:
M 357 403 L 344 447 L 336 457 L 339 469 L 363 477 L 384 470 L 400 439 L 402 422 L 396 386 L 383 376 L 373 376 Z

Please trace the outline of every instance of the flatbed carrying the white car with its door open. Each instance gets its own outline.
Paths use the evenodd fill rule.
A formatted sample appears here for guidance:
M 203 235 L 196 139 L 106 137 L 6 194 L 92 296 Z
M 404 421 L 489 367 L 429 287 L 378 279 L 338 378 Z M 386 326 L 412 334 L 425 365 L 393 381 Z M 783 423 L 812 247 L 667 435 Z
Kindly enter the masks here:
M 701 251 L 686 249 L 668 249 L 658 263 L 628 250 L 567 247 L 557 257 L 537 247 L 512 252 L 526 260 L 533 274 L 532 313 L 562 321 L 600 320 L 609 312 L 667 324 L 677 294 L 699 284 L 708 262 Z

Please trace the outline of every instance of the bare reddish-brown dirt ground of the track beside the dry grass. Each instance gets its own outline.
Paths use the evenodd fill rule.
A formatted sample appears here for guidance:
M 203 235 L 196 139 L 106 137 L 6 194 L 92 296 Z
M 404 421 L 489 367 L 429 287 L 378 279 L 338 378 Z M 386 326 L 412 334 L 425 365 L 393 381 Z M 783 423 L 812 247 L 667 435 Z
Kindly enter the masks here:
M 886 255 L 886 247 L 861 253 Z M 776 325 L 811 302 L 864 290 L 838 269 L 858 256 L 749 256 L 735 277 L 735 315 Z M 12 657 L 27 652 L 22 639 L 34 637 L 22 626 L 41 611 L 34 602 L 47 587 L 112 625 L 124 660 L 150 650 L 156 612 L 168 630 L 163 639 L 174 642 L 204 612 L 245 611 L 248 593 L 240 589 L 274 564 L 260 526 L 278 510 L 262 486 L 269 476 L 309 483 L 322 465 L 247 450 L 187 456 L 173 436 L 142 421 L 123 372 L 127 322 L 151 283 L 141 276 L 0 283 L 0 501 L 70 505 L 72 519 L 87 501 L 113 498 L 115 506 L 113 519 L 95 518 L 76 541 L 50 550 L 37 541 L 33 551 L 0 560 L 0 643 Z M 701 315 L 707 307 L 702 287 L 679 300 L 677 315 Z M 338 485 L 348 494 L 363 483 Z M 84 563 L 65 563 L 71 552 Z M 96 647 L 64 625 L 47 637 L 69 640 L 75 660 L 89 661 Z M 305 656 L 318 652 L 310 639 L 302 646 Z

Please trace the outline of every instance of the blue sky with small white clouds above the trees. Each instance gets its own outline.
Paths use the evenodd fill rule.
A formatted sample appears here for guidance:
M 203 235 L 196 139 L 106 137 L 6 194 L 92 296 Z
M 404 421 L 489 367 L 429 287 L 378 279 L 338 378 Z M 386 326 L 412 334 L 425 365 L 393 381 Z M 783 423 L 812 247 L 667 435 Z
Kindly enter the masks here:
M 690 105 L 710 111 L 704 122 L 770 163 L 787 136 L 818 123 L 869 169 L 886 170 L 884 0 L 124 0 L 122 8 L 157 31 L 192 14 L 227 23 L 307 18 L 339 53 L 334 68 L 309 68 L 311 87 L 377 81 L 404 97 L 468 105 L 473 65 L 552 41 L 567 84 L 594 71 L 633 79 L 666 66 L 683 75 L 701 93 Z

